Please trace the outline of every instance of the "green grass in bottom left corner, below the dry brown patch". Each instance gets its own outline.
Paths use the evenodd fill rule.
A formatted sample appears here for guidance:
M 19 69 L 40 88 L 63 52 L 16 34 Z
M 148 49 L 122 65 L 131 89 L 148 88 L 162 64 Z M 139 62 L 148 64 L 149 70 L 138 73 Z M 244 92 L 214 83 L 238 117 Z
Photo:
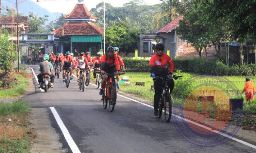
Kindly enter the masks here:
M 28 153 L 29 150 L 30 142 L 27 140 L 0 140 L 0 153 Z

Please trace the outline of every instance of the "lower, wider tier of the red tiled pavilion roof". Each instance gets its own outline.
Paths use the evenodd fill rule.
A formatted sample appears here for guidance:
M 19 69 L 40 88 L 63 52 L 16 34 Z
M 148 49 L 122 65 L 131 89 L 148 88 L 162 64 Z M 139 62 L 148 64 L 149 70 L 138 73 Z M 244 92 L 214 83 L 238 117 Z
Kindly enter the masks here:
M 62 36 L 62 27 L 56 29 L 56 36 Z M 68 22 L 64 25 L 64 35 L 102 35 L 104 30 L 88 22 Z

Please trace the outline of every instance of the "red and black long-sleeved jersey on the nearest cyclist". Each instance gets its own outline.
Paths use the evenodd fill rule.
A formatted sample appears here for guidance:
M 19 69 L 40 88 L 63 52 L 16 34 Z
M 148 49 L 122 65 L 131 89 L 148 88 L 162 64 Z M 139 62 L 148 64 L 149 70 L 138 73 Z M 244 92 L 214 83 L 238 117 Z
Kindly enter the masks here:
M 168 67 L 170 66 L 170 73 L 173 73 L 174 64 L 173 60 L 167 54 L 163 53 L 161 57 L 157 55 L 153 55 L 149 61 L 150 72 L 155 73 L 155 75 L 163 76 L 168 74 Z

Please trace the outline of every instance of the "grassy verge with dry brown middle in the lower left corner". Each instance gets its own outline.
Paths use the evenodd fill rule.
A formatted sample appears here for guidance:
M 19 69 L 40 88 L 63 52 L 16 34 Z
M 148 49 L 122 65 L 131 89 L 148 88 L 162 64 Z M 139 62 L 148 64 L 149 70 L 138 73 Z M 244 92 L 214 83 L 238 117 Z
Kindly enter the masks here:
M 28 128 L 29 113 L 25 101 L 0 102 L 0 153 L 29 152 L 29 139 L 35 137 L 34 131 Z

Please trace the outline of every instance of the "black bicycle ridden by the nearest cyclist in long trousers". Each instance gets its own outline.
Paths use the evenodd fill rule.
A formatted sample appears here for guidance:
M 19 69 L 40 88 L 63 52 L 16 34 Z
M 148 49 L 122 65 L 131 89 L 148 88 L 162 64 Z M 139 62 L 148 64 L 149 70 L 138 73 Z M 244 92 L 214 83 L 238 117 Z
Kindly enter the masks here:
M 178 79 L 181 78 L 182 76 L 176 76 L 173 75 L 172 78 L 173 79 Z M 170 78 L 170 79 L 172 79 Z M 171 94 L 170 94 L 170 88 L 167 85 L 167 80 L 168 78 L 162 78 L 160 76 L 156 76 L 155 78 L 153 78 L 153 80 L 155 81 L 156 79 L 162 79 L 162 86 L 163 86 L 163 92 L 161 94 L 161 99 L 158 105 L 158 115 L 157 118 L 161 118 L 162 116 L 162 112 L 164 109 L 164 118 L 166 122 L 170 122 L 171 117 L 172 117 L 172 98 L 171 98 Z

